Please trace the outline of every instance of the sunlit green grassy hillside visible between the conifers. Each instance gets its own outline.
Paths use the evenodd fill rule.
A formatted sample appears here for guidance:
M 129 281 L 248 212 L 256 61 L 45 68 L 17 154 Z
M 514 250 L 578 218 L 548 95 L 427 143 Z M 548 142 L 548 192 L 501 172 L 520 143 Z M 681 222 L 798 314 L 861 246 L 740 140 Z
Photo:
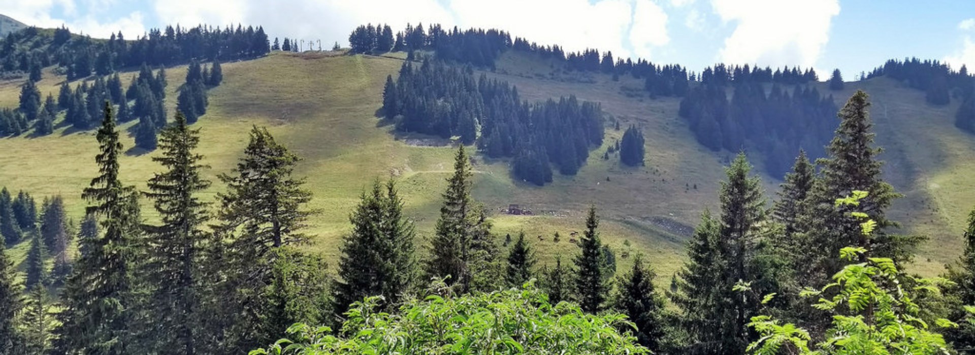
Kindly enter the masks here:
M 234 166 L 252 124 L 267 125 L 304 159 L 297 173 L 307 177 L 308 188 L 314 193 L 312 207 L 321 211 L 312 221 L 312 232 L 318 237 L 310 248 L 335 260 L 338 240 L 349 230 L 349 211 L 363 188 L 377 177 L 397 177 L 407 214 L 416 221 L 421 237 L 429 237 L 453 152 L 443 146 L 417 146 L 417 142 L 439 141 L 394 134 L 391 126 L 374 117 L 381 106 L 386 76 L 395 75 L 401 64 L 402 59 L 395 55 L 329 53 L 275 53 L 225 63 L 224 84 L 211 90 L 208 114 L 197 124 L 203 135 L 200 153 L 212 166 L 208 176 L 214 178 Z M 679 100 L 650 99 L 639 89 L 641 81 L 621 78 L 613 82 L 603 75 L 554 72 L 549 64 L 509 53 L 488 75 L 516 85 L 526 99 L 575 94 L 602 102 L 604 111 L 612 115 L 611 121 L 643 127 L 647 163 L 630 168 L 621 166 L 615 157 L 603 160 L 604 145 L 578 175 L 557 175 L 555 182 L 539 188 L 513 181 L 506 160 L 478 157 L 475 196 L 495 211 L 494 231 L 501 235 L 526 231 L 538 247 L 543 264 L 557 254 L 568 258 L 576 248 L 568 242 L 569 233 L 582 230 L 583 212 L 595 203 L 604 219 L 604 240 L 617 250 L 626 249 L 623 243 L 629 240 L 634 252 L 647 254 L 659 274 L 669 275 L 680 266 L 684 235 L 700 211 L 716 208 L 722 163 L 732 153 L 716 155 L 697 144 L 677 117 Z M 167 74 L 167 103 L 172 115 L 185 67 L 168 68 Z M 123 81 L 131 76 L 123 75 Z M 56 93 L 61 80 L 63 77 L 46 72 L 39 87 L 45 95 Z M 20 84 L 0 83 L 0 107 L 17 105 Z M 882 158 L 889 161 L 887 170 L 894 171 L 890 180 L 908 195 L 894 215 L 911 231 L 932 236 L 916 269 L 937 272 L 941 263 L 954 260 L 961 217 L 970 207 L 966 204 L 975 200 L 971 196 L 975 191 L 973 179 L 966 175 L 975 171 L 975 162 L 964 160 L 975 151 L 975 139 L 952 125 L 955 106 L 927 107 L 921 92 L 883 78 L 847 87 L 837 93 L 838 99 L 857 87 L 873 94 L 878 141 L 888 149 Z M 642 97 L 634 97 L 637 95 Z M 622 131 L 610 125 L 606 134 L 606 144 L 610 144 Z M 134 145 L 131 137 L 124 143 L 127 147 Z M 72 215 L 80 216 L 80 192 L 96 174 L 96 150 L 91 131 L 65 127 L 46 137 L 0 139 L 0 186 L 37 196 L 64 195 Z M 145 180 L 158 169 L 151 156 L 131 151 L 122 161 L 123 179 L 144 187 Z M 777 182 L 768 177 L 764 180 L 767 195 L 773 195 Z M 510 203 L 540 215 L 496 212 Z M 144 213 L 153 217 L 148 208 Z M 552 240 L 555 231 L 563 235 L 559 243 Z M 537 235 L 543 235 L 544 240 Z M 21 243 L 15 253 L 22 254 L 25 248 L 26 243 Z M 621 258 L 620 268 L 629 260 L 632 258 Z M 666 281 L 667 277 L 658 280 Z

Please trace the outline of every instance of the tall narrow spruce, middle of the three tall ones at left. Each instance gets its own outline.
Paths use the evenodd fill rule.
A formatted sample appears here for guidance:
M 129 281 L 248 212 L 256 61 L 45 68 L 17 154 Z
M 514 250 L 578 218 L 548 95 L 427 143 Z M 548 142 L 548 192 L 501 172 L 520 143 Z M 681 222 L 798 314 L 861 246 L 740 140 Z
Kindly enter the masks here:
M 197 195 L 210 182 L 200 176 L 206 166 L 195 153 L 199 142 L 199 130 L 188 128 L 177 112 L 176 122 L 160 132 L 161 155 L 152 158 L 166 171 L 149 179 L 149 192 L 144 193 L 162 220 L 161 226 L 147 229 L 151 249 L 143 274 L 154 287 L 147 321 L 158 349 L 180 349 L 183 354 L 196 352 L 199 336 L 194 330 L 201 321 L 196 297 L 207 215 L 206 204 Z

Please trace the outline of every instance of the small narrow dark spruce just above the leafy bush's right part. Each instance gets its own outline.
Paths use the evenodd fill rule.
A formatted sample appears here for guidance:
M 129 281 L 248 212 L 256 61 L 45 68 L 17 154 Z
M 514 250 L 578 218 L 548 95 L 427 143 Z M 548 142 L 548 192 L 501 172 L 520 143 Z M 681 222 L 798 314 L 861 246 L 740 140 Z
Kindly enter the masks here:
M 596 207 L 589 207 L 586 217 L 586 231 L 580 240 L 582 253 L 575 257 L 575 295 L 582 310 L 596 313 L 603 309 L 604 302 L 610 289 L 605 276 L 603 257 L 603 242 L 599 228 L 599 218 L 596 217 Z

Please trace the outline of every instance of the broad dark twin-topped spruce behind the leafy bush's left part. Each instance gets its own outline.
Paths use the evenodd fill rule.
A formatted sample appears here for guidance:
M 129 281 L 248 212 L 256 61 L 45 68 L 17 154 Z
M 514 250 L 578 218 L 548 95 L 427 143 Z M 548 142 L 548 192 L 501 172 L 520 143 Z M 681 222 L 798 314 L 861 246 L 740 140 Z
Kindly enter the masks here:
M 412 224 L 403 219 L 403 201 L 390 181 L 363 193 L 349 218 L 352 232 L 342 241 L 332 309 L 342 314 L 352 302 L 382 296 L 388 309 L 403 300 L 414 281 Z

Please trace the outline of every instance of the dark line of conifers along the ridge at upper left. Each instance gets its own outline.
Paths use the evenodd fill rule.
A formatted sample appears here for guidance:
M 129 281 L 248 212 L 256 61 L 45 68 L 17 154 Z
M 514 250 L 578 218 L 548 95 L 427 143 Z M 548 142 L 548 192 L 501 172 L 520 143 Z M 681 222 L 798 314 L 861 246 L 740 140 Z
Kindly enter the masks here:
M 197 60 L 238 60 L 270 52 L 261 26 L 153 28 L 134 41 L 121 32 L 107 40 L 74 35 L 65 28 L 53 32 L 27 27 L 0 40 L 0 68 L 29 73 L 39 80 L 42 68 L 58 64 L 68 80 L 91 75 L 109 76 L 122 68 L 173 66 Z M 35 76 L 36 73 L 36 76 Z

